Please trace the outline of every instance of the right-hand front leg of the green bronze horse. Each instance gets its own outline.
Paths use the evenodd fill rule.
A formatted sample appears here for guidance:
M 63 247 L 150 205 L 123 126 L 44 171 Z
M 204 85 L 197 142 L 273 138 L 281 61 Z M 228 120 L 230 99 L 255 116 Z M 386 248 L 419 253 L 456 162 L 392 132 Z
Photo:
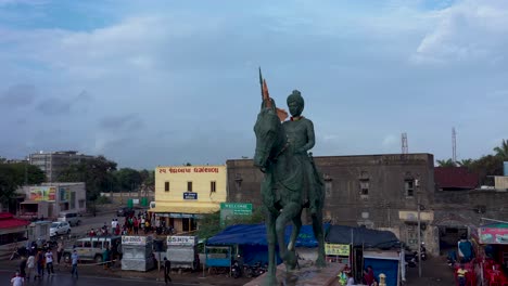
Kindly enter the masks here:
M 282 209 L 282 211 L 280 212 L 276 221 L 276 232 L 277 232 L 277 237 L 278 237 L 278 243 L 279 243 L 279 253 L 280 253 L 280 258 L 282 258 L 282 260 L 284 261 L 284 264 L 288 271 L 294 270 L 294 268 L 296 266 L 296 255 L 294 251 L 288 251 L 288 247 L 285 246 L 285 240 L 284 240 L 285 225 L 288 224 L 288 222 L 296 218 L 296 216 L 300 218 L 301 212 L 302 212 L 302 207 L 300 204 L 290 203 L 284 206 L 284 208 Z M 300 226 L 302 226 L 302 222 L 300 222 Z M 300 233 L 300 227 L 297 230 L 296 236 L 299 233 Z M 294 245 L 291 246 L 291 248 L 294 249 Z

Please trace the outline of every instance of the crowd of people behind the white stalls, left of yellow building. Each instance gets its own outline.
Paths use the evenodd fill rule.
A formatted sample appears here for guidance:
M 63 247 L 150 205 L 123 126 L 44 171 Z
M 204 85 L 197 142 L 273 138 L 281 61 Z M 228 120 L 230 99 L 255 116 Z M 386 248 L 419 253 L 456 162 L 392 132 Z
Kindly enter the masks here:
M 111 220 L 111 226 L 107 222 L 100 229 L 90 229 L 88 236 L 106 236 L 106 235 L 139 235 L 140 233 L 151 234 L 174 234 L 173 225 L 167 226 L 166 220 L 155 217 L 154 213 L 148 211 L 139 211 L 138 214 L 131 214 L 124 218 L 123 223 L 118 219 Z

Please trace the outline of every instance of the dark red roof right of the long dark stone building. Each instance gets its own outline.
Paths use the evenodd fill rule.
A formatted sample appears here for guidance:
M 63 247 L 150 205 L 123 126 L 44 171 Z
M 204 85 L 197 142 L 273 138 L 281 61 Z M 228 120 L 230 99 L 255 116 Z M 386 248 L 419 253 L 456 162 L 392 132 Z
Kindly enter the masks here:
M 435 167 L 434 181 L 439 188 L 468 188 L 478 186 L 479 176 L 466 167 Z

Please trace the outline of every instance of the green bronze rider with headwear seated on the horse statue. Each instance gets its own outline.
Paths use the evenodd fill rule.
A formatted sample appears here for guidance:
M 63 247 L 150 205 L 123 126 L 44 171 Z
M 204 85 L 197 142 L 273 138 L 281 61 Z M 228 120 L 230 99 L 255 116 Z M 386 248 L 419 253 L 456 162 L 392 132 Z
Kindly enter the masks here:
M 306 181 L 306 186 L 304 187 L 303 194 L 303 204 L 307 205 L 310 209 L 312 214 L 317 213 L 316 200 L 319 199 L 316 194 L 316 183 L 320 183 L 321 180 L 318 177 L 318 172 L 314 165 L 314 161 L 307 154 L 309 150 L 314 147 L 315 135 L 314 135 L 314 125 L 313 121 L 304 116 L 302 112 L 305 106 L 305 101 L 302 98 L 302 94 L 297 90 L 288 96 L 288 107 L 291 114 L 290 120 L 287 120 L 282 123 L 282 127 L 285 130 L 288 140 L 293 146 L 294 157 L 299 160 L 299 164 L 303 168 L 304 180 Z

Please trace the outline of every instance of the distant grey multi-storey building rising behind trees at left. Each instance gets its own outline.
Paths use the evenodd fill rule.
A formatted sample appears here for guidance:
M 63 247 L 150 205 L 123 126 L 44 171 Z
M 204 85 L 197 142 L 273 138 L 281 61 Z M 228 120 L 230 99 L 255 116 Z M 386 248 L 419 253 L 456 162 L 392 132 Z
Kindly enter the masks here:
M 39 152 L 30 154 L 30 165 L 39 167 L 45 173 L 47 182 L 55 182 L 62 170 L 72 164 L 93 158 L 90 155 L 78 154 L 77 151 Z

